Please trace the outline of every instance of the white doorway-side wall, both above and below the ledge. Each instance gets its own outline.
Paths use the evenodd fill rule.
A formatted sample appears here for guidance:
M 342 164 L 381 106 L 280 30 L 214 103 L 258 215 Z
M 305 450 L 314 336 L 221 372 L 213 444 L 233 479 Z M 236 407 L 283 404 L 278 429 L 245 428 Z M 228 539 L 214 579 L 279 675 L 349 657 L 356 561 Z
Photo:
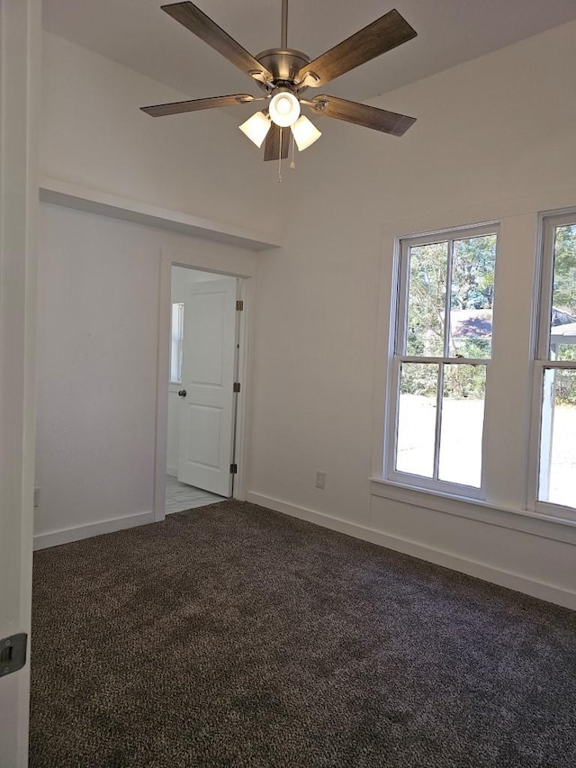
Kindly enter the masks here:
M 42 176 L 222 224 L 279 230 L 288 190 L 275 184 L 260 194 L 254 148 L 227 111 L 154 120 L 139 106 L 186 95 L 49 32 L 42 42 Z M 244 114 L 238 107 L 238 122 Z M 41 207 L 35 532 L 36 546 L 48 546 L 151 519 L 162 248 L 175 258 L 184 253 L 185 263 L 242 275 L 253 274 L 257 257 Z

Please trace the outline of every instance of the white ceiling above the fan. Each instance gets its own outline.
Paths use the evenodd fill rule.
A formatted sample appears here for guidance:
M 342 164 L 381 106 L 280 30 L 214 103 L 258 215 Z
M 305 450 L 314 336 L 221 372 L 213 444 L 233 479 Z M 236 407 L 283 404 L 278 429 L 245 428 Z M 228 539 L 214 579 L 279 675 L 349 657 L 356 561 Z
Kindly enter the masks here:
M 163 2 L 43 0 L 44 27 L 193 98 L 258 93 Z M 196 5 L 255 55 L 280 46 L 281 0 Z M 362 101 L 576 18 L 574 0 L 290 0 L 288 46 L 314 59 L 392 7 L 419 36 L 339 77 L 329 94 Z

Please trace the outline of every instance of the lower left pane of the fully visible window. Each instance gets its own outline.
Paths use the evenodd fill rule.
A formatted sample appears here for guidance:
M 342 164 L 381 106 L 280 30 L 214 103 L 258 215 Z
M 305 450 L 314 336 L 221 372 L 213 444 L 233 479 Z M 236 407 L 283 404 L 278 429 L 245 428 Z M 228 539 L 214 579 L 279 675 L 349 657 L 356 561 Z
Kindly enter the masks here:
M 438 366 L 402 363 L 396 469 L 432 477 L 436 436 Z

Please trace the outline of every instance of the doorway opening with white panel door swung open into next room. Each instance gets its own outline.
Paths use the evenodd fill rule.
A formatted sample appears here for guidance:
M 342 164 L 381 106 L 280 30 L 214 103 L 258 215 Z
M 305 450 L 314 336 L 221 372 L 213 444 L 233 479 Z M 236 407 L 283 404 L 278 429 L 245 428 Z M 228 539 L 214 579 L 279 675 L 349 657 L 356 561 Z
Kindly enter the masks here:
M 166 514 L 233 495 L 242 306 L 237 277 L 174 264 L 170 277 Z

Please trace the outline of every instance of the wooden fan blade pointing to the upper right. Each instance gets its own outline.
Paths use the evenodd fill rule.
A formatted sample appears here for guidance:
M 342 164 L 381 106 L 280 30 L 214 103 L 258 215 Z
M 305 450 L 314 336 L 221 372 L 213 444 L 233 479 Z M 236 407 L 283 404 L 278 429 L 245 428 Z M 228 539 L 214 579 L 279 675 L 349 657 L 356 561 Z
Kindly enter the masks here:
M 302 67 L 297 80 L 306 79 L 307 86 L 323 86 L 350 69 L 375 59 L 403 42 L 408 42 L 416 37 L 416 34 L 404 17 L 394 9 Z M 306 78 L 308 74 L 315 77 Z

